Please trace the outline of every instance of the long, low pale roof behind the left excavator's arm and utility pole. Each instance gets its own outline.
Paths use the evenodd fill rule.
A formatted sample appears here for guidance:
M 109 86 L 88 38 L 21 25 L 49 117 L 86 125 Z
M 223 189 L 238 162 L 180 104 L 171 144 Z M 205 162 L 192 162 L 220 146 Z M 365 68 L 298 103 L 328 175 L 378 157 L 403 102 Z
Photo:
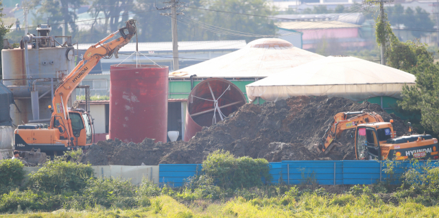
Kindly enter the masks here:
M 131 40 L 133 41 L 133 40 Z M 79 44 L 80 50 L 86 50 L 93 44 Z M 193 41 L 178 42 L 178 51 L 197 50 L 236 50 L 246 46 L 246 40 L 223 40 L 223 41 Z M 119 52 L 136 51 L 136 42 L 130 42 L 123 46 Z M 139 51 L 172 51 L 172 42 L 139 42 Z M 147 55 L 147 54 L 144 54 Z

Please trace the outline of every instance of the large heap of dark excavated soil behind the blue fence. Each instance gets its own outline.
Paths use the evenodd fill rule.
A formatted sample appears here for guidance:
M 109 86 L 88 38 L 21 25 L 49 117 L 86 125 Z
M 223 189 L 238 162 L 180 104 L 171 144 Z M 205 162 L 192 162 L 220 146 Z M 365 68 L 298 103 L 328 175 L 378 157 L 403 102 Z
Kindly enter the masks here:
M 385 122 L 394 120 L 394 131 L 406 133 L 403 121 L 379 105 L 355 103 L 346 98 L 300 96 L 263 105 L 246 104 L 222 122 L 203 127 L 190 141 L 139 144 L 99 141 L 84 155 L 82 162 L 92 165 L 156 165 L 158 163 L 202 163 L 215 150 L 228 150 L 235 156 L 283 160 L 355 159 L 354 140 L 344 131 L 336 146 L 323 156 L 316 148 L 336 113 L 375 111 Z

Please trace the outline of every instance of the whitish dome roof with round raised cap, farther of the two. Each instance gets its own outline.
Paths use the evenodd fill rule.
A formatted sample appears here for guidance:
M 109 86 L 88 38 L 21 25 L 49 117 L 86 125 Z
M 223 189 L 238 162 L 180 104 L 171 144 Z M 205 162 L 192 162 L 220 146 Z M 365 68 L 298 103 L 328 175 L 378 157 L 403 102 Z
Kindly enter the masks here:
M 278 38 L 262 38 L 244 49 L 171 72 L 170 79 L 197 77 L 260 78 L 324 56 L 294 47 Z

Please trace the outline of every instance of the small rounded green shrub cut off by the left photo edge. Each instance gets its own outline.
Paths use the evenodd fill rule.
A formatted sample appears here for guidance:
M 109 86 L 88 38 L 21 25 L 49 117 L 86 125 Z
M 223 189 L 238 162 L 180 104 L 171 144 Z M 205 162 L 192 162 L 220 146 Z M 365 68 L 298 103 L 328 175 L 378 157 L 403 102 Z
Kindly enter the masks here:
M 0 187 L 19 185 L 25 178 L 24 164 L 18 159 L 0 161 Z

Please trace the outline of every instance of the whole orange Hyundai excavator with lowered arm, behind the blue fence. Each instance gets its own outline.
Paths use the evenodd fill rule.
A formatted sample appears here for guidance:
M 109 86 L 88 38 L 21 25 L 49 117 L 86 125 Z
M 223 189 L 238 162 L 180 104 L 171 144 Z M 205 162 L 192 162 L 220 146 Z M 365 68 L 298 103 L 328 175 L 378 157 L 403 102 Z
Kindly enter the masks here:
M 355 115 L 348 118 L 349 115 Z M 407 135 L 396 137 L 393 120 L 384 122 L 381 115 L 363 111 L 341 112 L 325 131 L 318 148 L 327 154 L 333 148 L 333 141 L 343 131 L 355 128 L 355 156 L 357 160 L 405 160 L 438 159 L 438 139 L 431 135 Z M 411 132 L 411 131 L 410 131 Z

